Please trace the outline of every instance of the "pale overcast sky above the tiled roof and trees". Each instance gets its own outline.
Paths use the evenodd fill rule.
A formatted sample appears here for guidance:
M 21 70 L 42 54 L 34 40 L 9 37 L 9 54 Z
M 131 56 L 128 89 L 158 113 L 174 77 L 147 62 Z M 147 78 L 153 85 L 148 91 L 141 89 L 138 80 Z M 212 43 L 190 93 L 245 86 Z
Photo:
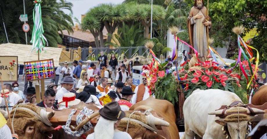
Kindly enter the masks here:
M 72 11 L 73 17 L 81 19 L 81 15 L 85 14 L 90 8 L 97 6 L 100 3 L 113 3 L 119 4 L 124 0 L 65 0 L 73 4 Z M 63 10 L 66 14 L 70 12 L 68 10 Z

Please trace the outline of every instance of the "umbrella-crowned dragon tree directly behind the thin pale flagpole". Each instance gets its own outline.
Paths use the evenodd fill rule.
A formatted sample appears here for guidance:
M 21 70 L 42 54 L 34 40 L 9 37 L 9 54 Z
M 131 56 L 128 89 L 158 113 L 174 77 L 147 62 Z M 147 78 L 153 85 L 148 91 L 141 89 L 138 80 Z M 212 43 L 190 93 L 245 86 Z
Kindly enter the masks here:
M 144 26 L 144 38 L 149 39 L 149 27 L 151 25 L 151 6 L 149 4 L 138 4 L 131 7 L 131 17 L 139 21 Z M 164 19 L 166 12 L 162 6 L 153 5 L 152 20 Z

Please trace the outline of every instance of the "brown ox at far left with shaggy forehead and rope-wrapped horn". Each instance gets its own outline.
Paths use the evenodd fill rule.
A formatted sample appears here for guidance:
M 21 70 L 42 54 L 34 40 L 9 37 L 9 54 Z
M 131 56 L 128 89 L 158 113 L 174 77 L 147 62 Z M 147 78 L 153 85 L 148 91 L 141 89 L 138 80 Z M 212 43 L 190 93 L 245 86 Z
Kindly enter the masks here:
M 16 107 L 17 105 L 15 105 L 14 107 Z M 34 112 L 36 112 L 38 115 L 40 115 L 40 109 L 39 107 L 33 105 L 33 104 L 28 104 L 28 105 L 20 105 L 22 107 L 26 107 Z M 70 107 L 70 109 L 82 109 L 84 106 L 86 106 L 89 109 L 95 110 L 98 109 L 98 107 L 95 107 L 93 105 L 87 105 L 84 102 L 79 103 L 76 106 L 72 106 Z M 14 108 L 13 107 L 13 108 Z M 48 108 L 49 109 L 49 108 Z M 52 109 L 50 109 L 50 111 L 52 111 Z M 2 111 L 1 111 L 2 112 Z M 68 117 L 68 115 L 70 113 L 64 113 L 65 111 L 56 111 L 55 113 L 57 115 L 61 115 L 61 116 L 65 116 Z M 6 112 L 2 112 L 3 115 L 5 116 L 5 118 L 7 119 L 7 113 Z M 64 113 L 63 115 L 60 113 Z M 78 112 L 76 112 L 78 114 Z M 75 113 L 75 115 L 77 115 Z M 10 117 L 12 119 L 14 114 L 14 110 L 11 111 L 10 113 Z M 51 113 L 50 117 L 51 118 L 53 116 L 54 113 Z M 55 116 L 56 116 L 55 114 Z M 55 118 L 54 116 L 51 118 L 53 119 Z M 50 120 L 51 120 L 50 119 Z M 9 128 L 11 129 L 11 125 L 9 120 L 7 120 L 7 125 L 9 126 Z M 53 122 L 51 122 L 53 123 Z M 66 122 L 65 122 L 66 123 Z M 63 129 L 59 129 L 59 131 L 55 131 L 54 127 L 57 127 L 57 125 L 64 125 L 64 124 L 56 124 L 53 123 L 52 126 L 47 126 L 45 125 L 42 121 L 40 121 L 35 115 L 33 115 L 32 113 L 30 113 L 27 110 L 21 110 L 21 109 L 17 109 L 16 113 L 15 113 L 15 118 L 13 120 L 13 126 L 14 126 L 14 131 L 15 133 L 18 134 L 20 139 L 46 139 L 47 136 L 51 136 L 51 133 L 53 133 L 53 138 L 57 138 L 57 139 L 76 139 L 76 138 L 80 138 L 80 137 L 73 137 L 68 135 L 67 133 L 64 132 Z M 87 133 L 88 134 L 88 133 Z M 86 135 L 87 135 L 86 134 Z

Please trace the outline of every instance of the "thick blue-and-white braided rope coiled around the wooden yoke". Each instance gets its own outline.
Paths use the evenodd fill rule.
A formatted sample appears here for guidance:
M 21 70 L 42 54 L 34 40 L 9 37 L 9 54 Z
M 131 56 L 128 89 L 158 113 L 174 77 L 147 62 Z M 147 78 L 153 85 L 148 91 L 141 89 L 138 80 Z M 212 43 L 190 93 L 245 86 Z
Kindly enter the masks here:
M 89 131 L 93 127 L 93 125 L 91 124 L 91 122 L 87 122 L 79 131 L 72 131 L 70 128 L 70 123 L 71 123 L 71 118 L 72 118 L 73 114 L 75 114 L 76 111 L 77 111 L 77 109 L 71 110 L 71 114 L 68 116 L 68 120 L 66 122 L 66 125 L 63 125 L 62 129 L 64 129 L 64 131 L 71 136 L 80 137 L 83 133 Z M 76 117 L 76 124 L 77 125 L 79 125 L 82 122 L 82 120 L 83 120 L 82 118 L 84 116 L 89 116 L 89 115 L 93 114 L 94 111 L 84 107 L 79 112 L 80 113 Z

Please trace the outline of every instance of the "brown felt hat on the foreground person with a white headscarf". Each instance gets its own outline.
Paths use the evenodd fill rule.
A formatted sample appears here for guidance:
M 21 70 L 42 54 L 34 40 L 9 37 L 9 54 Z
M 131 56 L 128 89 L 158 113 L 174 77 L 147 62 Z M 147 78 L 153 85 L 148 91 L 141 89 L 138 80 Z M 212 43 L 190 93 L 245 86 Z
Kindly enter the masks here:
M 117 101 L 107 103 L 99 110 L 100 116 L 107 120 L 120 120 L 125 117 L 125 112 L 120 109 Z

